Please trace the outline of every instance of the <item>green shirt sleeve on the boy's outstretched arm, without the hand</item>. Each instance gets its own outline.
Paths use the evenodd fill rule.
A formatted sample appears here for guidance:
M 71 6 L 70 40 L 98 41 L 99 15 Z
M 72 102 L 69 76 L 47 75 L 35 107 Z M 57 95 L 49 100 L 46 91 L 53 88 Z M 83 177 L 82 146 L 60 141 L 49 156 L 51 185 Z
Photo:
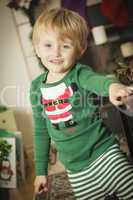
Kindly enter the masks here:
M 79 67 L 77 71 L 77 81 L 81 88 L 100 96 L 108 96 L 109 86 L 119 82 L 114 75 L 101 75 L 84 65 Z

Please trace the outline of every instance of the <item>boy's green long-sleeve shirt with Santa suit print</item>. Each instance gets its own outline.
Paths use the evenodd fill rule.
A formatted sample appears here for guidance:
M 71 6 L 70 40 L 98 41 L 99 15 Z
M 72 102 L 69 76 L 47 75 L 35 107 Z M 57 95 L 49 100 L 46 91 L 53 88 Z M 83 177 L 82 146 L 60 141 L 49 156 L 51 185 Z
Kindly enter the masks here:
M 64 166 L 79 171 L 116 142 L 100 117 L 98 96 L 108 96 L 117 80 L 79 63 L 58 82 L 46 83 L 47 75 L 45 71 L 36 78 L 30 90 L 36 174 L 48 173 L 51 139 Z

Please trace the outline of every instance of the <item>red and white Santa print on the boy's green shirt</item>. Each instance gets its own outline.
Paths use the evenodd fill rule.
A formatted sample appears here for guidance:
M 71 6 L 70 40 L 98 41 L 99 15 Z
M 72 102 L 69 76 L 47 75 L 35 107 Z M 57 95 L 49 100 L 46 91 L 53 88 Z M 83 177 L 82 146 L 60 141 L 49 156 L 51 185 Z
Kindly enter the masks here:
M 41 88 L 41 103 L 44 105 L 44 111 L 55 128 L 58 128 L 60 122 L 64 122 L 66 127 L 74 126 L 71 113 L 72 105 L 69 98 L 73 96 L 74 84 L 66 86 L 65 83 L 59 85 Z

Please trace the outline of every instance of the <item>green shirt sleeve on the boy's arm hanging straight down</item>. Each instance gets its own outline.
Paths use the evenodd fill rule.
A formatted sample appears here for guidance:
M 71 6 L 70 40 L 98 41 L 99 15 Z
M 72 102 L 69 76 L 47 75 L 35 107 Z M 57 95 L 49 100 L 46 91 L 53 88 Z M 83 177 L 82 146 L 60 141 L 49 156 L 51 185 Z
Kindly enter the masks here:
M 50 149 L 50 137 L 48 134 L 46 119 L 42 115 L 43 108 L 40 104 L 40 89 L 34 87 L 34 83 L 30 88 L 30 101 L 33 112 L 33 142 L 36 175 L 48 174 L 48 161 Z

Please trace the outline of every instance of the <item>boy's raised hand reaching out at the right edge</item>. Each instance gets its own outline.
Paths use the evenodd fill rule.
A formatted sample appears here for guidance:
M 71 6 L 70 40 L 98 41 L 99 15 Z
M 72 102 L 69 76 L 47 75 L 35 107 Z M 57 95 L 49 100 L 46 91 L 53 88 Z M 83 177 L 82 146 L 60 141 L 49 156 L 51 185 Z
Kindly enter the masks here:
M 121 83 L 112 83 L 109 87 L 109 100 L 115 106 L 126 103 L 129 95 L 133 94 L 133 87 Z

